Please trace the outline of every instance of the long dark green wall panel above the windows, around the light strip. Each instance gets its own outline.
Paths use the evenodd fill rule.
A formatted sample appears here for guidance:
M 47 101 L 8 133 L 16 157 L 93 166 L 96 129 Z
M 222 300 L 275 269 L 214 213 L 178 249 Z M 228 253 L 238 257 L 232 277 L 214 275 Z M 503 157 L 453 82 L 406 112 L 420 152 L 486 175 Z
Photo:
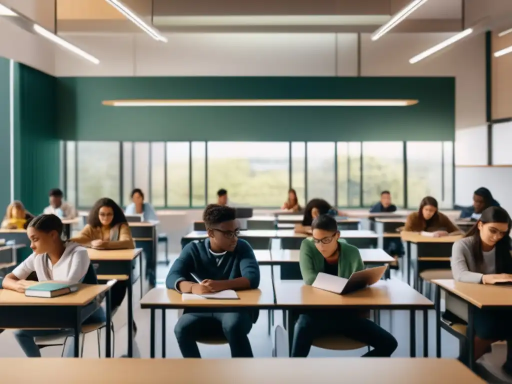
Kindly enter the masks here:
M 453 77 L 76 77 L 57 80 L 66 140 L 454 140 Z M 418 99 L 407 107 L 113 107 L 109 99 Z

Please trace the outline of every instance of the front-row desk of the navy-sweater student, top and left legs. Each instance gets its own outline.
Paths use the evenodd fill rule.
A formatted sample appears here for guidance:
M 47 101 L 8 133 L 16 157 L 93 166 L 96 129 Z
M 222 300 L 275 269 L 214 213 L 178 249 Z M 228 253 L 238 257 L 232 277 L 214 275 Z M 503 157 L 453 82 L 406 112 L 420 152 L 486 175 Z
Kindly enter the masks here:
M 272 284 L 260 283 L 259 289 L 238 291 L 240 300 L 188 300 L 183 301 L 181 294 L 174 289 L 153 288 L 140 301 L 142 309 L 151 310 L 151 348 L 150 355 L 155 357 L 155 310 L 162 310 L 162 357 L 165 358 L 165 310 L 190 309 L 196 312 L 233 312 L 240 308 L 275 309 Z

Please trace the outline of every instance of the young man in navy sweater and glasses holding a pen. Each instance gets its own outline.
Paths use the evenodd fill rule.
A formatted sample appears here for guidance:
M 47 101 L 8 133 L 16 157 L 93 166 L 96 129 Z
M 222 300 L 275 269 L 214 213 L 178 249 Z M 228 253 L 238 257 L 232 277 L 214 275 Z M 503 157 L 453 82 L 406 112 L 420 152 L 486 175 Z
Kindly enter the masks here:
M 210 204 L 204 210 L 203 220 L 208 238 L 183 248 L 169 270 L 166 287 L 195 294 L 258 288 L 260 268 L 251 246 L 238 239 L 240 229 L 234 209 Z M 232 357 L 252 357 L 247 334 L 258 314 L 259 311 L 251 309 L 228 313 L 185 310 L 174 329 L 181 354 L 183 357 L 201 357 L 197 340 L 224 334 Z

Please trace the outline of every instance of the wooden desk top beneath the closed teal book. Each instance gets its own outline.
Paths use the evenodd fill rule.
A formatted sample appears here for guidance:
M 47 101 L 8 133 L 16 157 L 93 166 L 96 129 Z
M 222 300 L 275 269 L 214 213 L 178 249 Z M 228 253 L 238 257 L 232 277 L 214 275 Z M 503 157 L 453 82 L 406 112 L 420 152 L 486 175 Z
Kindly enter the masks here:
M 34 284 L 38 284 L 34 282 Z M 0 307 L 2 306 L 84 306 L 91 303 L 96 296 L 107 291 L 109 287 L 103 284 L 80 284 L 80 289 L 75 293 L 63 296 L 44 298 L 25 296 L 25 293 L 0 289 Z

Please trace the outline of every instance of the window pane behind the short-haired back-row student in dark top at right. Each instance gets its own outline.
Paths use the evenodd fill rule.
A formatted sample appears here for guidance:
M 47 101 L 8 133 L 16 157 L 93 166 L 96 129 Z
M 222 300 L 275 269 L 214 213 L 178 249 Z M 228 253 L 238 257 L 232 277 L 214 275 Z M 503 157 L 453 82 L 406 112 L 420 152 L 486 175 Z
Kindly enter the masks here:
M 391 192 L 395 205 L 403 206 L 403 142 L 362 143 L 362 205 L 380 199 L 383 190 Z

